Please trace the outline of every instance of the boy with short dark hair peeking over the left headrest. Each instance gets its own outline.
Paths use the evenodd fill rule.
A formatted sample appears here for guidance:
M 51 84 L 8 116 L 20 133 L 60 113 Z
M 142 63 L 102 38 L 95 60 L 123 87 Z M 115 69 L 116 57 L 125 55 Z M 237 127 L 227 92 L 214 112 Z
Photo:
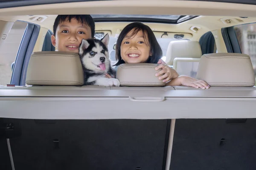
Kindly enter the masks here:
M 82 39 L 92 38 L 94 34 L 95 23 L 90 15 L 58 15 L 51 40 L 58 51 L 78 53 Z

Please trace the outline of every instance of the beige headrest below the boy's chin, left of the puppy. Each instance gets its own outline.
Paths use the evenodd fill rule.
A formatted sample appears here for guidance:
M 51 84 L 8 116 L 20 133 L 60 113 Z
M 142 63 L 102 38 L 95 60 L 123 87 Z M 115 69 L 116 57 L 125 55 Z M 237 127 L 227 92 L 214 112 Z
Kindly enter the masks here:
M 83 85 L 79 54 L 60 51 L 34 52 L 26 74 L 27 85 Z

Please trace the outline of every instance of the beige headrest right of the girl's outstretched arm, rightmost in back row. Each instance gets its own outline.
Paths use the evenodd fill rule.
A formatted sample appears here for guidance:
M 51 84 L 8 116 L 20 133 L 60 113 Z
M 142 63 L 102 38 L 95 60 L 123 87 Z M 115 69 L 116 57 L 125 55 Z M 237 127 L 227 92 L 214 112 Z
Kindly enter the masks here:
M 253 65 L 247 54 L 204 54 L 198 65 L 197 79 L 211 86 L 254 86 Z

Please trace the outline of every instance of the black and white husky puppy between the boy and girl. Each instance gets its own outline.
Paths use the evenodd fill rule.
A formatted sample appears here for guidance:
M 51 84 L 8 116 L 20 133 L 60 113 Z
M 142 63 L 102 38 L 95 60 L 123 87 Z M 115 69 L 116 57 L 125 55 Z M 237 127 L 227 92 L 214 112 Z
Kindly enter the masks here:
M 105 77 L 106 73 L 111 77 L 116 75 L 109 60 L 108 42 L 108 34 L 101 40 L 82 40 L 79 46 L 79 56 L 84 71 L 84 85 L 120 86 L 118 79 Z M 102 63 L 105 63 L 105 70 L 99 67 Z

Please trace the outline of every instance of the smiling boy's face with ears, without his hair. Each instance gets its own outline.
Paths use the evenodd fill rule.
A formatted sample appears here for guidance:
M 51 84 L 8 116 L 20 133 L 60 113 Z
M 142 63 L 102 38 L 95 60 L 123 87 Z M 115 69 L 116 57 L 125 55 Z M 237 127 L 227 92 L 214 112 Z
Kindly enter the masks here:
M 58 51 L 79 52 L 83 39 L 92 38 L 91 29 L 87 24 L 79 23 L 76 19 L 66 20 L 58 24 L 56 35 L 52 35 L 52 45 Z

